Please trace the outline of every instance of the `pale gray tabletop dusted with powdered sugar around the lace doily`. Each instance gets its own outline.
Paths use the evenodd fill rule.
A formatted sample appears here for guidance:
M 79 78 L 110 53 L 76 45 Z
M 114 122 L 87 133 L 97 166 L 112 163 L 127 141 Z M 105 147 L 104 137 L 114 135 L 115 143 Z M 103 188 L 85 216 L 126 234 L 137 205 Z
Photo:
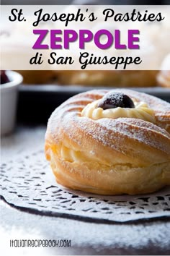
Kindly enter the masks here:
M 27 132 L 24 127 L 1 140 L 1 158 L 12 158 Z M 45 127 L 30 128 L 42 141 Z M 36 141 L 34 142 L 36 143 Z M 32 145 L 27 139 L 27 148 Z M 40 145 L 42 146 L 42 145 Z M 27 149 L 25 149 L 27 150 Z M 26 213 L 1 201 L 3 255 L 169 255 L 170 223 L 166 219 L 138 223 L 89 223 Z M 71 247 L 10 247 L 10 239 L 71 240 Z

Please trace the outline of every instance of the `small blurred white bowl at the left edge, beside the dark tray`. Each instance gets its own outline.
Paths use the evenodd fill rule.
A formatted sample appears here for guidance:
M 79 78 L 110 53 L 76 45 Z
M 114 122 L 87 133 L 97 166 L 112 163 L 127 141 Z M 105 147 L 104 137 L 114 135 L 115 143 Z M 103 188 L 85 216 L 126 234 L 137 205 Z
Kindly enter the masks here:
M 22 83 L 22 75 L 14 71 L 6 71 L 10 82 L 0 85 L 1 92 L 1 136 L 14 129 L 18 86 Z

